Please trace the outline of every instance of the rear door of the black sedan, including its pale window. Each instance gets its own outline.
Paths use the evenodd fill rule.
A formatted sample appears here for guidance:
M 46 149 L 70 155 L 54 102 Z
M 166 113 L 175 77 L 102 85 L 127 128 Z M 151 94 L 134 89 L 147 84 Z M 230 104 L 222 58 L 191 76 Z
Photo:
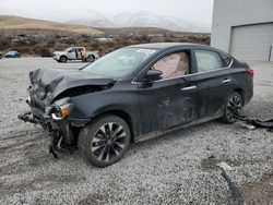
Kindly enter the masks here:
M 233 79 L 221 55 L 213 50 L 194 49 L 198 73 L 199 118 L 221 116 L 230 93 Z

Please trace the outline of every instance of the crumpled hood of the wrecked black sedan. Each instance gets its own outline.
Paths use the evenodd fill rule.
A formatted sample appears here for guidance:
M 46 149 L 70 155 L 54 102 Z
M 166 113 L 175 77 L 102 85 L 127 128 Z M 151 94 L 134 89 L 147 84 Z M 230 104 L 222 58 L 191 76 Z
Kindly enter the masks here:
M 43 100 L 46 98 L 45 95 L 50 93 L 50 100 L 47 99 L 47 102 L 51 102 L 58 95 L 73 87 L 114 83 L 112 79 L 75 69 L 38 69 L 29 73 L 29 79 L 32 83 L 29 92 L 36 99 Z

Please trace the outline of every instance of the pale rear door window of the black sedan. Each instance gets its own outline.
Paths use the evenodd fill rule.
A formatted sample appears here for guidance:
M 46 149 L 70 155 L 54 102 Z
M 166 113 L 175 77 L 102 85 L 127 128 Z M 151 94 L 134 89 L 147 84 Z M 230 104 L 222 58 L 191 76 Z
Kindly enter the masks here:
M 219 55 L 210 50 L 195 50 L 198 71 L 213 71 L 222 68 Z

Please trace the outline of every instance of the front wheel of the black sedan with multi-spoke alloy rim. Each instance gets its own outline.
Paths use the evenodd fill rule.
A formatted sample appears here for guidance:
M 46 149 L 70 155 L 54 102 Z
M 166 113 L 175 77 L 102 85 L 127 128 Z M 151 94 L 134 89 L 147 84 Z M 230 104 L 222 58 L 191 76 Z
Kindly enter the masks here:
M 83 158 L 93 166 L 107 167 L 124 155 L 130 140 L 128 123 L 117 116 L 106 114 L 81 130 L 78 146 Z

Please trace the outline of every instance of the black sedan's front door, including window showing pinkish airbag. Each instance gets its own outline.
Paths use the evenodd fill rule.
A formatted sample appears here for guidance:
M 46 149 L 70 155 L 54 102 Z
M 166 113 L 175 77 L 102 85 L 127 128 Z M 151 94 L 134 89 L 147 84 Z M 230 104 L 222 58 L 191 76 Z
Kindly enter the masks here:
M 139 84 L 142 133 L 171 129 L 195 118 L 197 87 L 185 77 L 190 72 L 189 51 L 164 56 L 149 69 L 162 79 Z M 185 60 L 187 59 L 187 60 Z

